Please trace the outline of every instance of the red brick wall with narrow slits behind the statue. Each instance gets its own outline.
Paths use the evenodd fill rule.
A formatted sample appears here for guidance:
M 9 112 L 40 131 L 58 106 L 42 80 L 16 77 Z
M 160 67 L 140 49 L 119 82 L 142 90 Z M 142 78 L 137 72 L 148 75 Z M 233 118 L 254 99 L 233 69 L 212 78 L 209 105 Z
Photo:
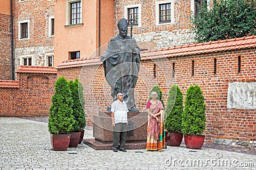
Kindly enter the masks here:
M 179 85 L 184 99 L 190 85 L 199 85 L 205 97 L 207 141 L 214 138 L 255 140 L 255 110 L 228 110 L 228 82 L 256 81 L 256 49 L 248 48 L 226 52 L 188 55 L 169 59 L 142 60 L 135 96 L 136 106 L 145 110 L 150 90 L 159 85 L 163 91 L 166 104 L 168 90 L 174 84 Z M 241 56 L 241 73 L 238 73 L 237 57 Z M 217 73 L 214 74 L 214 58 L 217 59 Z M 194 76 L 191 76 L 191 60 L 195 60 Z M 175 62 L 175 78 L 172 74 L 172 63 Z M 154 78 L 156 64 L 156 78 Z M 73 67 L 58 69 L 58 76 L 68 79 L 79 77 L 83 83 L 88 118 L 99 110 L 106 111 L 111 104 L 109 85 L 100 66 Z

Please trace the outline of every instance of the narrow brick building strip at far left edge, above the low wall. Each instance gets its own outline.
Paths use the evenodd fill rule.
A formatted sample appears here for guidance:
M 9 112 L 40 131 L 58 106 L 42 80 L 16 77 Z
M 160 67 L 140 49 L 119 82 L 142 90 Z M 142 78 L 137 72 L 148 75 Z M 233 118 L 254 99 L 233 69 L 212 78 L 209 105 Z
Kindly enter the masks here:
M 0 13 L 0 80 L 12 80 L 10 15 Z

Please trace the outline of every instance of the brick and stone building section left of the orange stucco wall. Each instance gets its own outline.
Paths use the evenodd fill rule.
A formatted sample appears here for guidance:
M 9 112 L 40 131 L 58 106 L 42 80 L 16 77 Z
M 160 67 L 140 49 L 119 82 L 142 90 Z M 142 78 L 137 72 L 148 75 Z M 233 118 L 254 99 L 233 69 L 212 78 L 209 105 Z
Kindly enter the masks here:
M 54 0 L 13 0 L 15 69 L 52 66 Z

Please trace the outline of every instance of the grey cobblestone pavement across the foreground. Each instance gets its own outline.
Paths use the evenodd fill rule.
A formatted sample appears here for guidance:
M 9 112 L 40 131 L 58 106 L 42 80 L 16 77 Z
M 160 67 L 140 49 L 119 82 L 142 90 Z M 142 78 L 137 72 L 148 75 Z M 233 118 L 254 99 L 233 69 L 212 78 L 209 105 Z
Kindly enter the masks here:
M 183 144 L 163 152 L 146 150 L 93 150 L 79 144 L 67 151 L 53 151 L 47 119 L 0 118 L 0 169 L 256 169 L 255 150 L 238 152 L 205 144 L 191 150 Z M 92 138 L 86 128 L 84 138 Z M 141 153 L 137 153 L 137 152 Z M 251 151 L 251 152 L 250 152 Z

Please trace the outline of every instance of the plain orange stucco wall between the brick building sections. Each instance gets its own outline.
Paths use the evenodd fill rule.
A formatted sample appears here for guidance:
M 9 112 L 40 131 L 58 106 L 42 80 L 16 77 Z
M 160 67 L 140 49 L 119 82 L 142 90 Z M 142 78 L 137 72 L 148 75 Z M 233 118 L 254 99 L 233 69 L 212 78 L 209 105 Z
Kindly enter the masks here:
M 101 0 L 100 44 L 113 36 L 113 1 Z M 66 25 L 67 1 L 55 1 L 54 66 L 68 60 L 68 52 L 80 51 L 81 58 L 97 55 L 99 46 L 99 0 L 82 0 L 83 25 Z M 66 26 L 65 26 L 66 25 Z M 112 25 L 112 26 L 111 26 Z

